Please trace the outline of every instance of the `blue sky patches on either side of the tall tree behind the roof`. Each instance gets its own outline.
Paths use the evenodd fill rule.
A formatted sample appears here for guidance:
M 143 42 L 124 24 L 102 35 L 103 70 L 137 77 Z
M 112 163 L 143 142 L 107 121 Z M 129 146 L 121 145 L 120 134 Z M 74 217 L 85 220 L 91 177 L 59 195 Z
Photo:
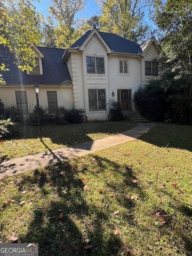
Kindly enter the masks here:
M 52 4 L 50 0 L 40 0 L 40 3 L 38 1 L 33 2 L 34 6 L 36 7 L 36 11 L 44 14 L 47 16 L 48 13 L 48 7 Z M 87 0 L 86 2 L 86 8 L 84 12 L 80 14 L 80 18 L 90 18 L 91 16 L 97 15 L 99 11 L 99 6 L 95 2 L 95 0 Z

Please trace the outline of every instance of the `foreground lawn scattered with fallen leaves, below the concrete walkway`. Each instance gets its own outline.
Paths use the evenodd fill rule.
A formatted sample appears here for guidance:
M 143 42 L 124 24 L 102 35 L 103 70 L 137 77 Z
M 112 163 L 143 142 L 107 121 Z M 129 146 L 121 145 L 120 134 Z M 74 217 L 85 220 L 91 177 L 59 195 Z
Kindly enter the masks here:
M 41 256 L 192 255 L 191 134 L 156 124 L 139 140 L 1 180 L 0 242 L 39 243 Z

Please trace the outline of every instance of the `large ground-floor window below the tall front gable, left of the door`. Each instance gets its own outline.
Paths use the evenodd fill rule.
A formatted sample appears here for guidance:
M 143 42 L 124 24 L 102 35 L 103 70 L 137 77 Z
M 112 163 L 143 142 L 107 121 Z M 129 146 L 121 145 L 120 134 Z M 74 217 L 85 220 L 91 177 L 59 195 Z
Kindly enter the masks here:
M 89 111 L 106 110 L 106 96 L 104 89 L 88 90 Z

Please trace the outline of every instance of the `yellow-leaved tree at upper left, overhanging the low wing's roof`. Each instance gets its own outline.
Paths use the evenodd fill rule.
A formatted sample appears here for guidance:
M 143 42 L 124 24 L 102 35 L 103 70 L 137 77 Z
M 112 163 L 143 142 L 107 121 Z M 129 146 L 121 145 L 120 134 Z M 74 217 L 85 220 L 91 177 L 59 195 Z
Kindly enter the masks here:
M 35 66 L 34 53 L 27 46 L 39 42 L 39 31 L 39 16 L 31 1 L 0 0 L 0 44 L 14 53 L 16 65 L 22 71 L 32 71 Z M 4 59 L 2 52 L 0 57 Z M 4 63 L 0 70 L 6 70 Z

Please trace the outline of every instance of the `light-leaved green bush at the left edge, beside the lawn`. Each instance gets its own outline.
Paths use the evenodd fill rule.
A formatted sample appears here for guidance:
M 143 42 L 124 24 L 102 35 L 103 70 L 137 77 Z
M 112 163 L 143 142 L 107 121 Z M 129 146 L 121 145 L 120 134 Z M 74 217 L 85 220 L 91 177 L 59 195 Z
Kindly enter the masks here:
M 0 138 L 18 138 L 22 134 L 22 127 L 18 123 L 11 122 L 11 119 L 0 120 Z

